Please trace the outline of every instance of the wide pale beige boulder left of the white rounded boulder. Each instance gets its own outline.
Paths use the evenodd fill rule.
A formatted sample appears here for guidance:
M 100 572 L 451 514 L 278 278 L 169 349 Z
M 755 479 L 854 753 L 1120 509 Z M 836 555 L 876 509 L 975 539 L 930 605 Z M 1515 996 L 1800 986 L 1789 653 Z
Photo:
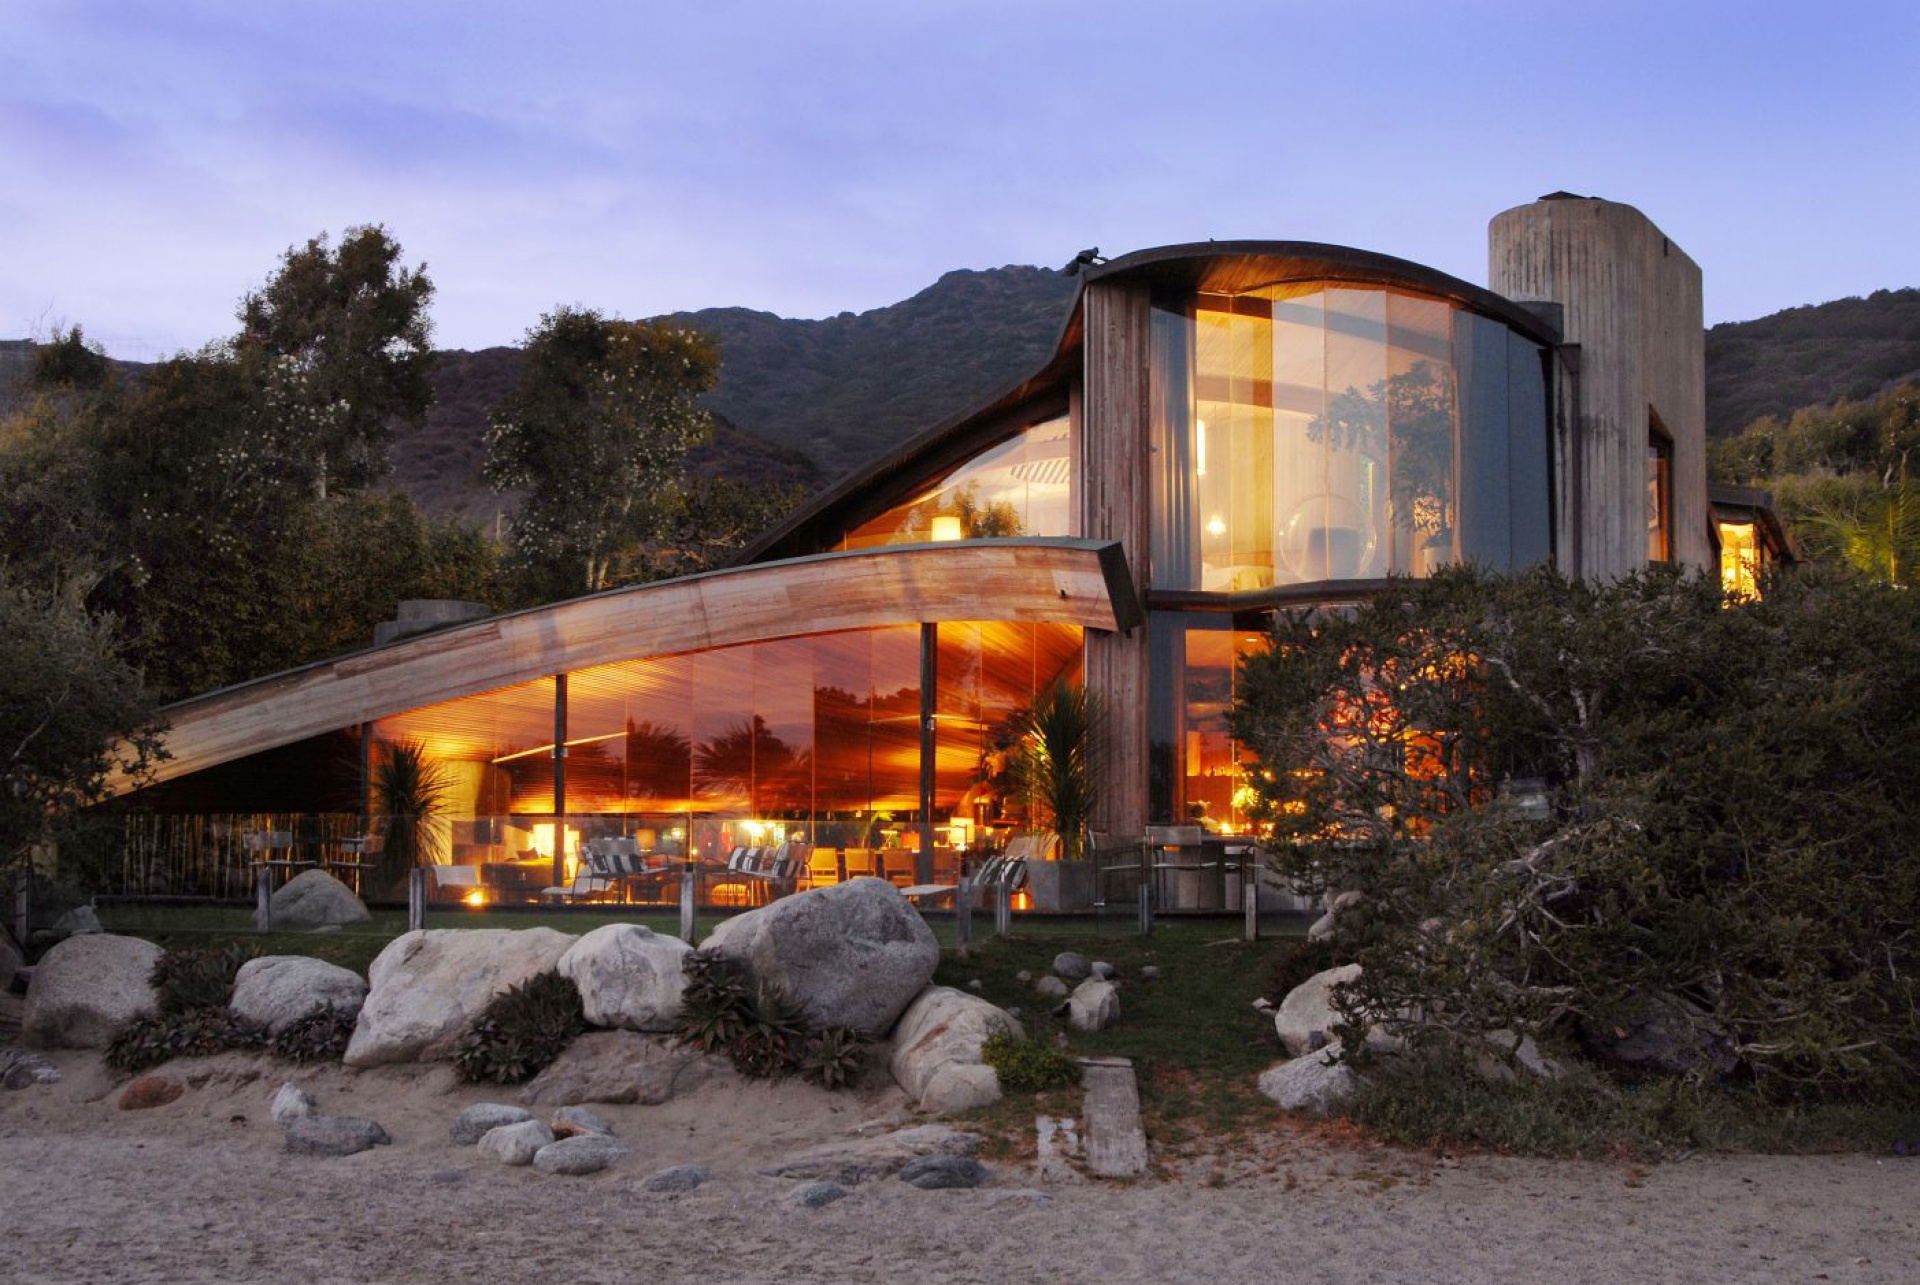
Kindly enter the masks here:
M 426 928 L 394 937 L 367 970 L 372 987 L 346 1064 L 451 1058 L 490 999 L 559 964 L 574 941 L 551 928 Z

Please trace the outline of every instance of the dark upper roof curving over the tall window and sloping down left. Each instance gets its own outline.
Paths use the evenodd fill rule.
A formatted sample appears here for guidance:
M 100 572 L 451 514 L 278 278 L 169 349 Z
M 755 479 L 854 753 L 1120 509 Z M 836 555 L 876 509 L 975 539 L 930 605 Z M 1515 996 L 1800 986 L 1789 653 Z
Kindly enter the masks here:
M 820 547 L 828 536 L 887 511 L 927 480 L 966 463 L 1021 426 L 1064 415 L 1068 384 L 1079 369 L 1085 286 L 1100 280 L 1213 294 L 1238 294 L 1292 280 L 1398 286 L 1494 317 L 1540 344 L 1559 344 L 1559 332 L 1532 309 L 1457 277 L 1369 250 L 1306 240 L 1208 240 L 1140 250 L 1081 269 L 1083 286 L 1073 296 L 1052 357 L 1039 371 L 1010 384 L 987 403 L 908 438 L 899 449 L 820 492 L 749 546 L 735 563 L 804 555 Z

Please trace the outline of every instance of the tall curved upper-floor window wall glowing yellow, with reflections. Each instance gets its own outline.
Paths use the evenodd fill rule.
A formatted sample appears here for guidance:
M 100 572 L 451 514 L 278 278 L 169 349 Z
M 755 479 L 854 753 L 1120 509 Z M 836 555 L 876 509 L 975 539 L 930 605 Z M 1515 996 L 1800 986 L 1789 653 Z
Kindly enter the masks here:
M 1154 309 L 1152 582 L 1238 594 L 1551 557 L 1542 348 L 1373 286 Z

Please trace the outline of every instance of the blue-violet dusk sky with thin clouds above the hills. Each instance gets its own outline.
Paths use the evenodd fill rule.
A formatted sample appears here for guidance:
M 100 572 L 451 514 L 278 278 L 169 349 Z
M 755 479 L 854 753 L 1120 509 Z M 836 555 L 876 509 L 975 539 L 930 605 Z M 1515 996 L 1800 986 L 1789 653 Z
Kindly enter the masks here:
M 1920 286 L 1920 2 L 0 0 L 0 338 L 129 359 L 365 223 L 488 348 L 1206 238 L 1484 284 L 1555 190 L 1709 323 Z

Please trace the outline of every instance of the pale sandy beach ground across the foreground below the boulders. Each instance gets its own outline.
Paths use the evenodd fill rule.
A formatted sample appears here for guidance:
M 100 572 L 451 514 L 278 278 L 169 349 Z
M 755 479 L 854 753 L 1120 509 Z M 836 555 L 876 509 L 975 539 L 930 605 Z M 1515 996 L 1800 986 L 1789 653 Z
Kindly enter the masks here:
M 1442 1160 L 1281 1127 L 1137 1183 L 1043 1183 L 991 1162 L 973 1191 L 870 1181 L 820 1210 L 760 1170 L 914 1124 L 897 1089 L 733 1083 L 601 1108 L 634 1154 L 593 1177 L 501 1168 L 447 1141 L 511 1101 L 445 1068 L 296 1072 L 392 1147 L 282 1151 L 284 1064 L 161 1068 L 190 1087 L 119 1110 L 119 1079 L 56 1055 L 58 1085 L 0 1093 L 8 1281 L 1914 1281 L 1920 1160 L 1692 1158 L 1663 1166 Z M 653 1195 L 639 1179 L 705 1164 Z

